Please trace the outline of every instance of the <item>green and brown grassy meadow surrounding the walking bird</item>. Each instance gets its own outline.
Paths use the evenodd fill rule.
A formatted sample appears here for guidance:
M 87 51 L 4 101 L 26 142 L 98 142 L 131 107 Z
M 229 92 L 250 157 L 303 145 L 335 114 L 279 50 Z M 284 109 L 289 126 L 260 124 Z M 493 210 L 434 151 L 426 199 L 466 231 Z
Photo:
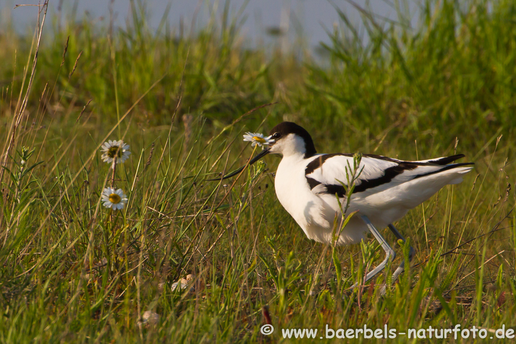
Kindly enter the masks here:
M 510 336 L 516 2 L 423 0 L 416 27 L 401 5 L 394 22 L 364 9 L 360 28 L 340 13 L 321 56 L 250 48 L 229 8 L 195 34 L 150 29 L 137 1 L 122 28 L 44 11 L 38 25 L 36 8 L 23 34 L 0 24 L 0 342 L 366 342 L 319 338 L 364 325 L 407 333 L 382 342 L 457 324 L 487 334 L 457 341 Z M 245 165 L 245 132 L 282 121 L 320 153 L 464 154 L 475 168 L 395 223 L 416 251 L 396 283 L 408 245 L 378 228 L 397 257 L 364 284 L 381 247 L 307 239 L 276 198 L 277 156 L 207 181 Z M 108 140 L 130 145 L 115 172 Z M 111 186 L 121 210 L 101 202 Z

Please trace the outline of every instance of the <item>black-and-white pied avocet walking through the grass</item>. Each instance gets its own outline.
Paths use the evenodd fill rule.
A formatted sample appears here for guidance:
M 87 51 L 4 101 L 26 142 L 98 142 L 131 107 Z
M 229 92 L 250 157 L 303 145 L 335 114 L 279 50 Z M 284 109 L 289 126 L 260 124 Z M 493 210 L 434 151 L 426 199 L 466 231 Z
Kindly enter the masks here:
M 249 140 L 247 136 L 246 140 Z M 378 274 L 389 259 L 395 257 L 394 250 L 377 228 L 389 226 L 397 239 L 405 241 L 392 223 L 445 185 L 460 183 L 463 174 L 469 172 L 473 165 L 472 162 L 451 163 L 464 157 L 462 154 L 421 161 L 364 154 L 358 171 L 348 170 L 347 176 L 346 167 L 353 168 L 353 154 L 317 154 L 310 134 L 295 123 L 280 123 L 270 130 L 269 137 L 255 139 L 270 146 L 249 163 L 269 153 L 283 155 L 276 172 L 276 195 L 307 237 L 315 241 L 332 242 L 334 220 L 342 218 L 341 206 L 346 204 L 349 174 L 358 175 L 347 210 L 348 214 L 357 213 L 343 228 L 336 243 L 357 243 L 367 231 L 378 240 L 386 256 L 380 265 L 366 274 L 365 281 Z M 240 168 L 222 179 L 242 170 Z M 413 254 L 410 248 L 410 259 Z M 393 280 L 403 269 L 404 262 L 394 272 Z

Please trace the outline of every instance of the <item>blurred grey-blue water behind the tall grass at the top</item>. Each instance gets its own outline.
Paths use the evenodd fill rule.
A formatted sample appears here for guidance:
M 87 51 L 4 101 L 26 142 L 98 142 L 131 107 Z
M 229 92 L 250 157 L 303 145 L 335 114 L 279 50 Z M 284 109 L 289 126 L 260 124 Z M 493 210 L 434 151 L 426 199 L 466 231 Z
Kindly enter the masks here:
M 5 0 L 0 4 L 0 20 L 12 25 L 20 33 L 34 30 L 37 18 L 36 0 Z M 339 11 L 344 13 L 352 26 L 359 28 L 367 43 L 367 32 L 362 25 L 362 9 L 374 15 L 384 25 L 417 24 L 418 6 L 415 2 L 398 0 L 83 0 L 50 1 L 50 14 L 54 26 L 59 28 L 70 20 L 88 18 L 99 25 L 112 22 L 124 27 L 131 16 L 131 3 L 142 6 L 152 29 L 169 29 L 176 35 L 195 34 L 210 20 L 222 22 L 225 12 L 229 20 L 237 20 L 240 35 L 246 45 L 274 47 L 281 50 L 304 49 L 321 54 L 320 43 L 330 44 L 328 33 L 343 24 Z M 408 18 L 404 23 L 400 18 Z M 160 24 L 166 24 L 160 26 Z

